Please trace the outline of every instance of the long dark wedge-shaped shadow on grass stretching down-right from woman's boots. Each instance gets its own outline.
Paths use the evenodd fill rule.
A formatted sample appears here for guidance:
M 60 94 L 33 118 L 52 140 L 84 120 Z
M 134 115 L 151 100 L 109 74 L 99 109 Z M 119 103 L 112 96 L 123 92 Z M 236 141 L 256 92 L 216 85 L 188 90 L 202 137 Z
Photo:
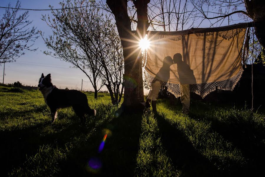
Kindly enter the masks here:
M 207 158 L 194 149 L 182 132 L 165 120 L 164 116 L 156 114 L 155 117 L 161 132 L 162 144 L 174 166 L 182 171 L 184 176 L 222 176 Z

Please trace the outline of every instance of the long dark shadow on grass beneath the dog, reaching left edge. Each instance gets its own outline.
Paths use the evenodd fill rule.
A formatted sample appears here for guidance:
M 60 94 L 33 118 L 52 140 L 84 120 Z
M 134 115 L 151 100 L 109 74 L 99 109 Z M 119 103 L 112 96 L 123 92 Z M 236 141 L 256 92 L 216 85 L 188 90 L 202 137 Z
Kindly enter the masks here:
M 77 117 L 75 118 L 77 119 Z M 51 128 L 55 132 L 47 135 L 41 134 L 51 124 L 50 121 L 24 129 L 1 132 L 0 155 L 1 159 L 6 159 L 6 161 L 1 165 L 4 170 L 1 171 L 2 175 L 0 174 L 0 176 L 6 176 L 13 168 L 19 166 L 23 168 L 22 163 L 27 160 L 27 157 L 36 154 L 39 146 L 52 144 L 58 148 L 65 148 L 66 143 L 72 142 L 75 137 L 89 132 L 97 122 L 96 119 L 93 119 L 86 127 L 83 127 L 80 125 L 79 119 L 77 120 L 72 124 L 53 124 Z M 62 127 L 66 128 L 61 130 Z

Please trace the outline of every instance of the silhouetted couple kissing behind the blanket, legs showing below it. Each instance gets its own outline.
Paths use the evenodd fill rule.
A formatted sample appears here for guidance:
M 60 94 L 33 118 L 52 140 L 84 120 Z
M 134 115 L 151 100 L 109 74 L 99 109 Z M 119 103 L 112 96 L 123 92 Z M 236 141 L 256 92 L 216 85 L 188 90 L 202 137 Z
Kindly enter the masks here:
M 182 55 L 180 53 L 176 53 L 173 57 L 173 60 L 170 56 L 167 56 L 163 60 L 163 66 L 160 68 L 156 77 L 151 83 L 151 90 L 147 97 L 146 107 L 150 107 L 150 102 L 152 101 L 153 112 L 157 112 L 156 108 L 156 100 L 157 95 L 159 93 L 161 83 L 170 82 L 170 66 L 173 64 L 177 64 L 177 71 L 179 75 L 180 85 L 182 87 L 183 95 L 180 97 L 182 103 L 182 112 L 184 114 L 189 113 L 190 109 L 190 87 L 189 83 L 196 83 L 193 71 L 190 69 L 190 66 L 187 65 L 184 61 L 182 61 Z M 181 88 L 180 88 L 181 89 Z

